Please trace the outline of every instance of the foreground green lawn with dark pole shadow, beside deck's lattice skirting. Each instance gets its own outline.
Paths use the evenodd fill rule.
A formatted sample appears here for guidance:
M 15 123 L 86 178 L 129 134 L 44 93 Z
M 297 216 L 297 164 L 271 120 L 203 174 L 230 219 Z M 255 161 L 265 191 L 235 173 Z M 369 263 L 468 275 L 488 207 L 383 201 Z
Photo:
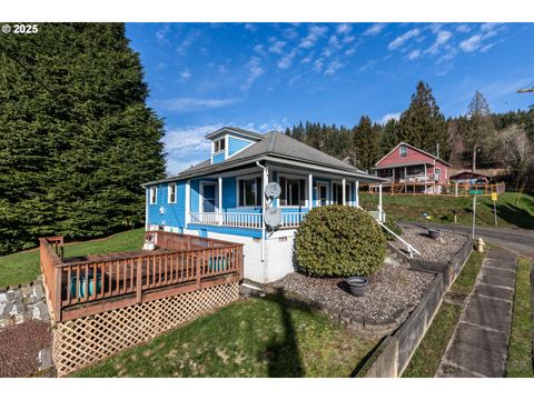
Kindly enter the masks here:
M 235 302 L 75 376 L 349 377 L 375 344 L 269 296 Z

